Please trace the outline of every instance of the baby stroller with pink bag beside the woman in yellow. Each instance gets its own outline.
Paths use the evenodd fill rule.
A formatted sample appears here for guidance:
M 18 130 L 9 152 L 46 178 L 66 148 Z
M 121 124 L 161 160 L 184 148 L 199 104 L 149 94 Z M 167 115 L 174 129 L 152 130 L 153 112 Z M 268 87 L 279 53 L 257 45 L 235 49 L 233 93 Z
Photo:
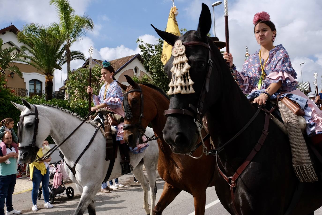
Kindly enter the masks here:
M 53 203 L 55 201 L 55 197 L 56 196 L 61 196 L 61 195 L 64 195 L 66 194 L 67 197 L 69 199 L 73 198 L 74 197 L 74 189 L 72 187 L 65 187 L 64 185 L 64 180 L 69 180 L 69 177 L 67 175 L 67 173 L 65 172 L 64 170 L 64 161 L 63 160 L 60 160 L 60 161 L 57 161 L 56 163 L 50 163 L 49 166 L 50 166 L 50 174 L 49 174 L 49 178 L 50 179 L 54 179 L 54 175 L 56 173 L 62 173 L 62 184 L 57 186 L 57 188 L 55 188 L 55 186 L 53 186 L 53 184 L 50 184 L 49 183 L 49 202 L 50 203 Z M 41 198 L 41 194 L 43 193 L 43 188 L 40 187 L 39 190 L 38 190 L 38 199 L 40 200 Z

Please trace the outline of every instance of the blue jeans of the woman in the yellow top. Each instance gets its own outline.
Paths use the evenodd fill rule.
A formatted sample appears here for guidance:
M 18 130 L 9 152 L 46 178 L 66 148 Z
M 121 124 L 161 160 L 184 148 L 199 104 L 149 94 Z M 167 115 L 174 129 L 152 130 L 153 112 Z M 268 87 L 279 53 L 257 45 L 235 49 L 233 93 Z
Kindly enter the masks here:
M 49 202 L 49 167 L 47 168 L 46 174 L 42 175 L 41 171 L 36 167 L 33 167 L 33 190 L 31 191 L 31 199 L 33 200 L 33 205 L 37 204 L 38 190 L 40 182 L 43 187 L 43 199 L 46 202 Z

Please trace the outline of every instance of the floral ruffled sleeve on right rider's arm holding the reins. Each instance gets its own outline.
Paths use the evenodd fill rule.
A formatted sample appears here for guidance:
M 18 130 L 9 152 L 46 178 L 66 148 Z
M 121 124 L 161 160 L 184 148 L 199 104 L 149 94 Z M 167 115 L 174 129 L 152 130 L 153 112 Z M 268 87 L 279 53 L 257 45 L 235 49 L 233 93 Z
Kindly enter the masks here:
M 286 51 L 284 53 L 275 54 L 270 66 L 272 67 L 271 72 L 264 80 L 266 86 L 271 83 L 282 81 L 280 91 L 290 92 L 296 89 L 298 86 L 298 82 L 295 80 L 297 78 L 297 73 L 294 71 L 289 55 Z

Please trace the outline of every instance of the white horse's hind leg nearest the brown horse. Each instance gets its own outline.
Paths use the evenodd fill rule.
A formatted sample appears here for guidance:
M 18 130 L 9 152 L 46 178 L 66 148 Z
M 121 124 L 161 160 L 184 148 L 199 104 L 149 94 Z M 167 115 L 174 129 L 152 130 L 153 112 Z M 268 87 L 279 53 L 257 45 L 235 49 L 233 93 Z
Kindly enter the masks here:
M 150 185 L 150 199 L 151 199 L 150 214 L 153 213 L 153 209 L 156 204 L 156 192 L 158 191 L 156 187 L 156 167 L 158 165 L 157 162 L 158 160 L 156 159 L 155 162 L 149 161 L 144 163 L 145 168 L 147 170 L 147 179 L 149 180 L 149 185 Z

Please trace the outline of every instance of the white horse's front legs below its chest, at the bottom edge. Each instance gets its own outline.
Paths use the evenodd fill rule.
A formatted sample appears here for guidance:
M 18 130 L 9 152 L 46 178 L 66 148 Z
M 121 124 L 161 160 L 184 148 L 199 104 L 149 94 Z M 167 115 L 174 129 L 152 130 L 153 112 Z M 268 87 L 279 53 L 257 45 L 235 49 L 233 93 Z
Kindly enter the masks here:
M 86 208 L 89 209 L 88 212 L 90 215 L 96 214 L 93 200 L 98 191 L 98 188 L 98 185 L 83 188 L 80 202 L 78 203 L 73 215 L 82 215 L 85 212 Z M 90 204 L 92 205 L 90 206 Z

